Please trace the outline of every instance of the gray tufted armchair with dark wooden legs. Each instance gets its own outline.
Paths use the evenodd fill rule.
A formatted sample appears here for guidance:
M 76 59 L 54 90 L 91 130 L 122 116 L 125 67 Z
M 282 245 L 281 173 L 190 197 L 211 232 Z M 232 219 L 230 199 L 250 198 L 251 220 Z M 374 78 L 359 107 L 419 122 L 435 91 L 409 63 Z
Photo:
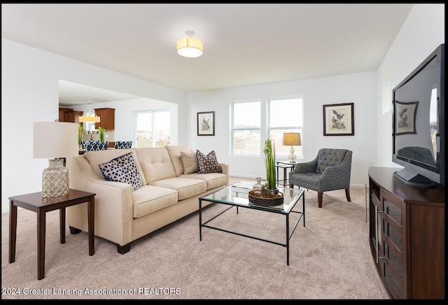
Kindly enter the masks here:
M 351 150 L 321 148 L 310 162 L 297 163 L 289 173 L 289 185 L 297 185 L 317 192 L 318 206 L 322 207 L 323 192 L 345 189 L 350 199 Z

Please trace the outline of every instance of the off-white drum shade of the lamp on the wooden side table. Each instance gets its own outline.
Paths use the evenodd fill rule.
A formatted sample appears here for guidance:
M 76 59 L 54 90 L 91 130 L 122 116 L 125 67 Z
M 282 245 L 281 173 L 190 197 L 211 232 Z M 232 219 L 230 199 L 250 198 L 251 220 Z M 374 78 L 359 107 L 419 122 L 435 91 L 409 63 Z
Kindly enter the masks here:
M 33 157 L 64 158 L 78 155 L 78 124 L 33 122 Z

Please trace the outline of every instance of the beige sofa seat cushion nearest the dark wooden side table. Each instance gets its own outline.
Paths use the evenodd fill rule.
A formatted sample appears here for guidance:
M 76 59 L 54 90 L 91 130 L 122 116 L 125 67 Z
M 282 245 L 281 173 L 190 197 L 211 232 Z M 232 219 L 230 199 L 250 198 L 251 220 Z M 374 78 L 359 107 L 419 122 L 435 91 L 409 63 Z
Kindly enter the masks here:
M 143 185 L 138 190 L 132 192 L 134 201 L 134 218 L 148 215 L 167 206 L 176 204 L 176 190 L 153 185 Z

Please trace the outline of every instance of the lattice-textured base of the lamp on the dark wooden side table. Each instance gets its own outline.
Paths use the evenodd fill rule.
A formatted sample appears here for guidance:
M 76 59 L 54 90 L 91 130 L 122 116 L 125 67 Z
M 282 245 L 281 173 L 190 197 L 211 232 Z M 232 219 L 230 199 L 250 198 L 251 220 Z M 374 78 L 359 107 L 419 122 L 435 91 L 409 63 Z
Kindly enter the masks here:
M 69 169 L 64 159 L 50 159 L 42 171 L 42 197 L 51 198 L 69 194 Z

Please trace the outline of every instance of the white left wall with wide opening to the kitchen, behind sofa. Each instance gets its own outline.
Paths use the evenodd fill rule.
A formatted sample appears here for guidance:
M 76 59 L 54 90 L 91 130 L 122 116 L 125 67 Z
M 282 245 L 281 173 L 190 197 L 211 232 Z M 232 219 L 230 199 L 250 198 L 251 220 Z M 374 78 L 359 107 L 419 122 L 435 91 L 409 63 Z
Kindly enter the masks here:
M 48 160 L 33 158 L 32 125 L 38 121 L 52 122 L 59 117 L 59 79 L 145 97 L 152 100 L 146 101 L 148 108 L 160 101 L 167 101 L 176 104 L 179 113 L 186 112 L 185 92 L 2 38 L 2 212 L 9 211 L 8 197 L 42 190 L 42 170 L 48 167 Z M 186 125 L 186 116 L 181 115 L 177 119 L 172 129 L 174 139 L 180 139 L 177 142 L 180 145 L 187 145 L 183 139 L 186 139 L 188 131 L 178 129 L 178 125 Z M 117 127 L 125 124 L 116 122 Z M 119 135 L 116 134 L 116 137 Z

